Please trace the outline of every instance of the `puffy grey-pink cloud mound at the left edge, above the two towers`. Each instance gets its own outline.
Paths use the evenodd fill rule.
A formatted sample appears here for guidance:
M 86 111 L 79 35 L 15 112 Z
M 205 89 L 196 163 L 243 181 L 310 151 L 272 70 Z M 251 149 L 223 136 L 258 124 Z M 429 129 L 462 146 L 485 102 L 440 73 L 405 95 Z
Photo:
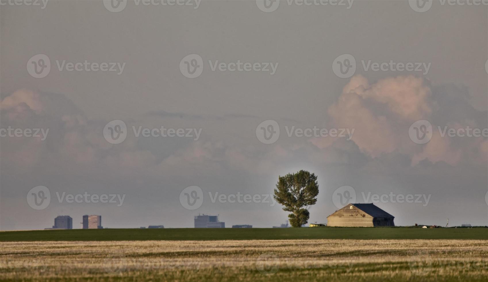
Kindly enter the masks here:
M 35 137 L 2 138 L 2 147 L 6 149 L 1 152 L 3 171 L 25 170 L 36 165 L 81 171 L 110 163 L 113 158 L 123 165 L 129 162 L 127 153 L 117 150 L 103 153 L 111 148 L 101 134 L 103 123 L 86 118 L 64 95 L 20 89 L 1 100 L 0 107 L 1 128 L 49 130 L 44 141 Z M 139 164 L 139 157 L 131 159 Z

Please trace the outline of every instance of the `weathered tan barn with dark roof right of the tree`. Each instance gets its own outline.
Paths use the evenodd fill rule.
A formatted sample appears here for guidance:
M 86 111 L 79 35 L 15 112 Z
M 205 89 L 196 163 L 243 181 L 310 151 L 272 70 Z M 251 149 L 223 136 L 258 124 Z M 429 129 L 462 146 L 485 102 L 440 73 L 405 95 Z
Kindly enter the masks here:
M 395 226 L 394 218 L 374 204 L 348 204 L 327 217 L 327 226 Z

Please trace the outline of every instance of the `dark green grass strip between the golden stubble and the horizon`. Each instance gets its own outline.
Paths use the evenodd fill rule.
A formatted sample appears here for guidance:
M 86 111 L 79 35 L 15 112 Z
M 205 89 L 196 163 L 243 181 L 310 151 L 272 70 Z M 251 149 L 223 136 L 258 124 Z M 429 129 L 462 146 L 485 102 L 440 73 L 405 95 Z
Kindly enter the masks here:
M 0 232 L 0 241 L 279 239 L 480 239 L 488 228 L 313 227 L 224 229 L 73 229 Z

